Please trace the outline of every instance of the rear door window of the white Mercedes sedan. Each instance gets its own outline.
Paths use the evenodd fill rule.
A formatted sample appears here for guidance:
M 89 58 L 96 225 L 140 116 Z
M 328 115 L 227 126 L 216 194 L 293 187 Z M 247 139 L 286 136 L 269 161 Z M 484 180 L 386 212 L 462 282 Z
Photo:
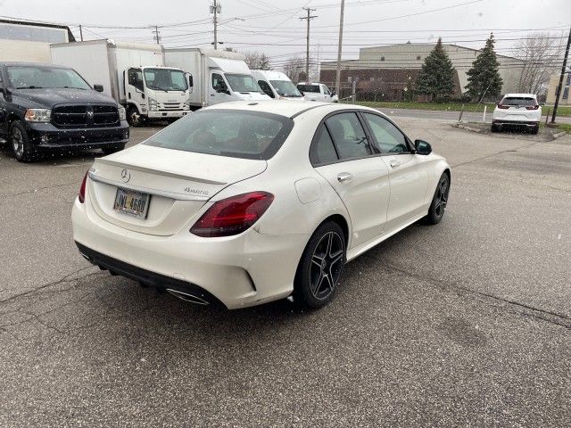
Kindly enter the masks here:
M 356 113 L 335 114 L 325 123 L 340 159 L 361 158 L 372 153 Z

